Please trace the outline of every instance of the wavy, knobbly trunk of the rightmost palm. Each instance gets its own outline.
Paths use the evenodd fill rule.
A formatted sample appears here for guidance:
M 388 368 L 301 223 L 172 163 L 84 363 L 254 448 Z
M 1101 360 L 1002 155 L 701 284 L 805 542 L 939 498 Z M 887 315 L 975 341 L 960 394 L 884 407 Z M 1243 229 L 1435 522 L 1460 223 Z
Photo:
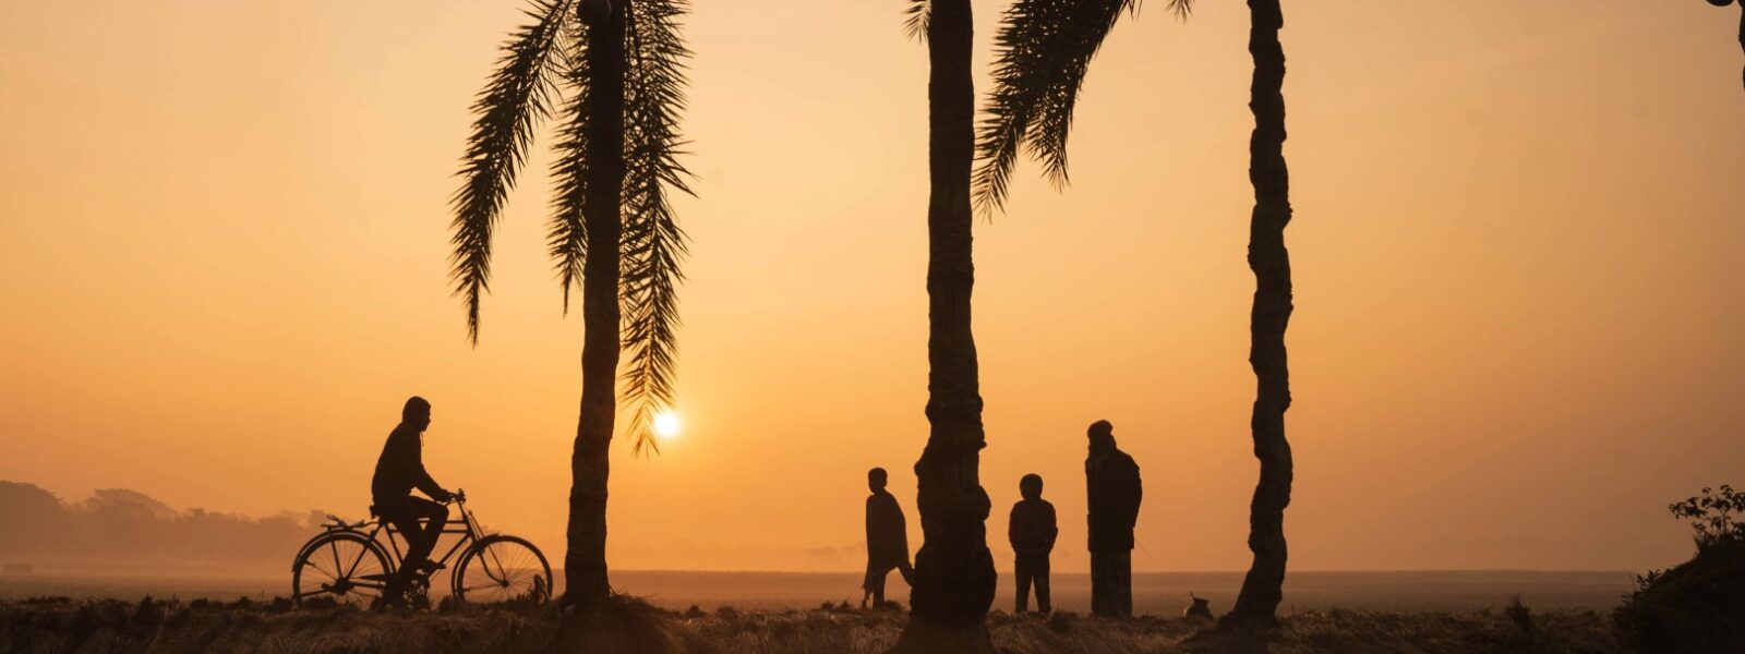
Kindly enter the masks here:
M 1255 272 L 1255 309 L 1249 314 L 1248 363 L 1258 391 L 1249 427 L 1260 483 L 1248 514 L 1248 549 L 1255 562 L 1227 619 L 1270 623 L 1284 595 L 1284 508 L 1291 502 L 1291 445 L 1284 439 L 1284 412 L 1291 406 L 1284 328 L 1291 319 L 1291 258 L 1284 225 L 1291 221 L 1290 171 L 1284 167 L 1284 47 L 1279 0 L 1248 0 L 1251 26 L 1248 52 L 1255 58 L 1249 110 L 1255 133 L 1248 143 L 1248 180 L 1255 185 L 1255 213 L 1248 223 L 1248 267 Z

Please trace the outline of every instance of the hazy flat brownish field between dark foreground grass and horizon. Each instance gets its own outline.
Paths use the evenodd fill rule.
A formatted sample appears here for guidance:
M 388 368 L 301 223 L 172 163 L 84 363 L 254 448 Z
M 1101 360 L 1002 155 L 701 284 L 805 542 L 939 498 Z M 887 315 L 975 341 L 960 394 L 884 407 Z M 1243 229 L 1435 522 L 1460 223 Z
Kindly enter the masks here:
M 562 584 L 562 572 L 557 574 Z M 1501 609 L 1516 593 L 1543 610 L 1598 610 L 1618 605 L 1630 591 L 1628 572 L 1291 572 L 1284 584 L 1283 614 L 1307 610 L 1386 610 L 1386 612 L 1476 612 Z M 859 576 L 845 572 L 667 572 L 614 570 L 619 591 L 647 598 L 651 603 L 684 610 L 721 605 L 752 610 L 811 609 L 822 602 L 859 602 Z M 1225 610 L 1235 600 L 1242 579 L 1237 572 L 1148 572 L 1134 574 L 1134 612 L 1178 616 L 1192 591 L 1209 598 L 1213 610 Z M 436 588 L 447 588 L 438 582 Z M 892 574 L 890 596 L 907 602 L 909 589 Z M 562 589 L 562 586 L 558 588 Z M 1054 605 L 1063 610 L 1089 610 L 1091 581 L 1084 574 L 1054 574 Z M 134 602 L 145 595 L 161 598 L 218 596 L 270 600 L 290 593 L 290 570 L 237 569 L 229 574 L 164 569 L 72 569 L 33 576 L 0 576 L 0 600 L 28 596 L 120 598 Z M 1012 609 L 1009 576 L 1000 579 L 995 609 Z

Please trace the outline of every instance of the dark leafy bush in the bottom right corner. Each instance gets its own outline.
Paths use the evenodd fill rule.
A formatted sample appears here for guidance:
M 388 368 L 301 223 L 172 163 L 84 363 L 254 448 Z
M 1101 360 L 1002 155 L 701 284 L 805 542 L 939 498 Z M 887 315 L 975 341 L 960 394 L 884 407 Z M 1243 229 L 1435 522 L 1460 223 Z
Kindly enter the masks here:
M 1693 521 L 1696 556 L 1637 576 L 1637 589 L 1612 612 L 1625 642 L 1640 652 L 1745 651 L 1745 497 L 1733 487 L 1668 506 Z

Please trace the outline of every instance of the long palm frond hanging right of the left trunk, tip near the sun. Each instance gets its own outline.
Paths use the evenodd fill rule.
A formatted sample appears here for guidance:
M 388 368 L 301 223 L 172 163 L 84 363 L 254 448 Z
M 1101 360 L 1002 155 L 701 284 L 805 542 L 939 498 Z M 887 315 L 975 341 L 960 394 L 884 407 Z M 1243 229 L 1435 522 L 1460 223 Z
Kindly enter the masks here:
M 686 0 L 637 0 L 625 30 L 623 344 L 630 351 L 623 398 L 635 405 L 632 450 L 660 452 L 654 415 L 672 406 L 679 326 L 679 263 L 688 251 L 672 194 L 691 194 L 679 162 L 684 140 L 684 59 L 691 54 L 677 19 Z

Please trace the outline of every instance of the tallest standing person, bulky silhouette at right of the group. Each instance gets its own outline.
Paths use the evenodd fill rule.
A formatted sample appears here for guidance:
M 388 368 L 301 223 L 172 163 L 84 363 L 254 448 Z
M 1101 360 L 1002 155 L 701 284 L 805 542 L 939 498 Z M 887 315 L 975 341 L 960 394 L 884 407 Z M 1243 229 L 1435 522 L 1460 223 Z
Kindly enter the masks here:
M 1133 525 L 1139 520 L 1139 464 L 1115 446 L 1115 426 L 1091 424 L 1085 499 L 1091 534 L 1091 612 L 1133 617 Z

